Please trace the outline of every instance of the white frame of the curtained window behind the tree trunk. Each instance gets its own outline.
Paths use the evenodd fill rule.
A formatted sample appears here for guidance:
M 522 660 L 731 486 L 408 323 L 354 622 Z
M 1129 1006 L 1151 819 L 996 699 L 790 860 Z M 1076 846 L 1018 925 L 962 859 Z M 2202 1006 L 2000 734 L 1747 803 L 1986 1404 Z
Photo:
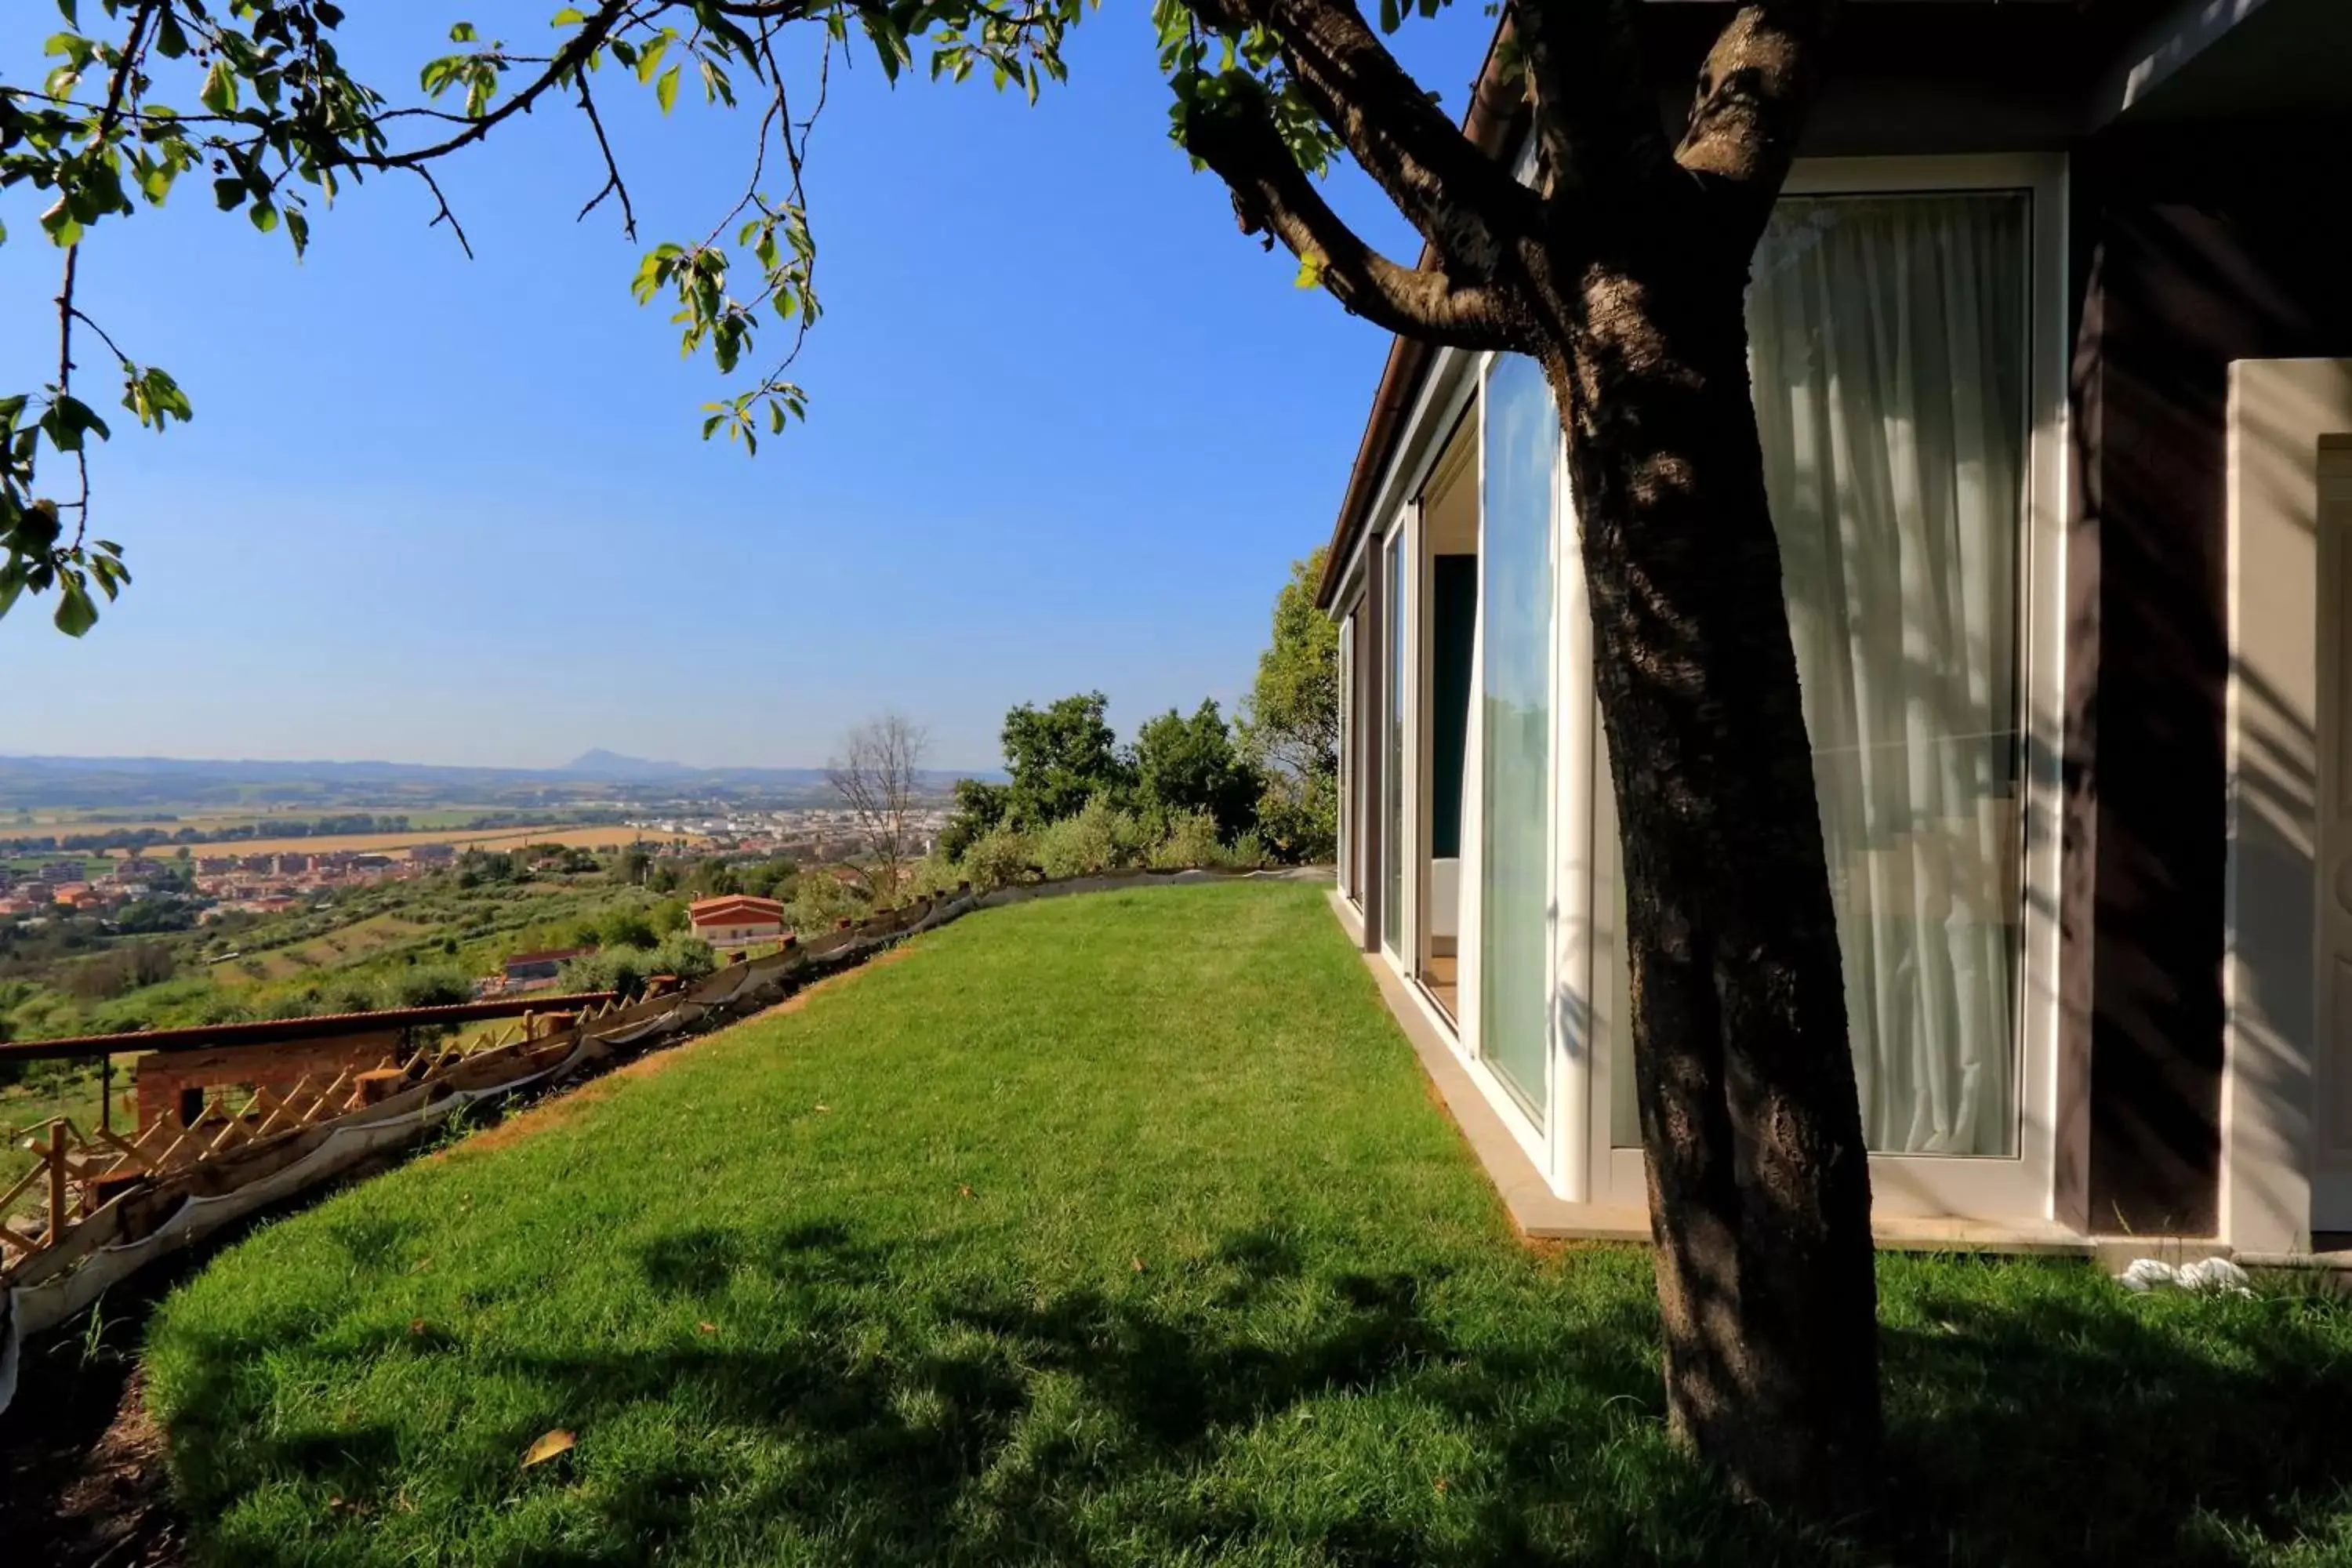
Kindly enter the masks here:
M 1959 158 L 1825 158 L 1799 162 L 1788 195 L 1867 195 L 1924 190 L 2023 190 L 2032 197 L 2027 235 L 2027 461 L 2025 515 L 2018 538 L 2018 637 L 2020 722 L 2025 726 L 2020 783 L 2023 835 L 2023 936 L 2016 987 L 2018 1135 L 2006 1157 L 1872 1154 L 1872 1213 L 1926 1220 L 2049 1220 L 2084 1229 L 2089 1199 L 2082 1171 L 2089 1119 L 2079 1114 L 2089 1065 L 2065 1060 L 2058 1006 L 2058 879 L 2065 757 L 2065 520 L 2067 475 L 2067 160 L 2065 155 L 1959 155 Z M 1581 571 L 1578 571 L 1581 578 Z M 1583 607 L 1583 583 L 1576 585 Z M 1583 618 L 1581 618 L 1583 621 Z M 1588 632 L 1585 632 L 1588 635 Z M 1590 635 L 1588 635 L 1590 637 Z M 1585 654 L 1590 670 L 1590 651 Z M 1583 682 L 1590 689 L 1590 677 Z M 1571 837 L 1562 889 L 1583 900 L 1583 919 L 1564 919 L 1564 973 L 1581 997 L 1564 997 L 1562 1013 L 1576 1016 L 1597 985 L 1599 940 L 1623 940 L 1609 931 L 1613 910 L 1595 900 L 1592 827 L 1599 764 L 1597 710 L 1581 719 L 1590 736 L 1566 792 Z M 1590 1016 L 1585 1011 L 1583 1016 Z M 1576 1135 L 1564 1157 L 1557 1192 L 1571 1201 L 1611 1208 L 1646 1204 L 1642 1150 L 1611 1147 L 1609 1074 L 1613 1044 L 1592 1039 L 1564 1067 L 1585 1079 Z

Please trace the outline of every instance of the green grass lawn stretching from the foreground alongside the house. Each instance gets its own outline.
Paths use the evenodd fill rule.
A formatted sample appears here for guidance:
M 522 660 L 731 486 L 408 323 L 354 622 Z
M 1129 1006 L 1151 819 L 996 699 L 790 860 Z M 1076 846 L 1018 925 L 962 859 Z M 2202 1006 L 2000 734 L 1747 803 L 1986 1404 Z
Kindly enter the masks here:
M 2352 1309 L 1879 1284 L 1886 1519 L 1726 1502 L 1646 1253 L 1510 1234 L 1322 891 L 1138 889 L 254 1234 L 148 1389 L 240 1566 L 2352 1561 Z

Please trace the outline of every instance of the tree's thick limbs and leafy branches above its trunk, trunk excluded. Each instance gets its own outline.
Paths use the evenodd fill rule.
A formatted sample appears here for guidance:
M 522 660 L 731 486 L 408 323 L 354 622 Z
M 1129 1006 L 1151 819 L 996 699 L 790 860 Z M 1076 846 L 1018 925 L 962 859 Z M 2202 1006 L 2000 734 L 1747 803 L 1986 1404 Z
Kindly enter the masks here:
M 66 26 L 47 42 L 40 85 L 0 75 L 0 188 L 49 193 L 40 226 L 64 252 L 56 374 L 12 404 L 0 442 L 0 611 L 26 590 L 54 590 L 59 628 L 80 635 L 96 618 L 92 592 L 113 597 L 129 581 L 120 552 L 89 534 L 87 437 L 106 440 L 108 425 L 75 386 L 82 336 L 103 343 L 122 404 L 143 425 L 186 421 L 191 404 L 85 313 L 75 261 L 101 223 L 162 205 L 183 176 L 209 181 L 221 212 L 285 233 L 296 256 L 315 209 L 369 174 L 407 176 L 423 186 L 433 226 L 447 223 L 463 247 L 435 167 L 515 115 L 560 106 L 576 115 L 597 181 L 581 216 L 609 205 L 635 240 L 600 94 L 652 92 L 668 113 L 699 92 L 715 108 L 757 110 L 743 195 L 701 237 L 656 244 L 635 275 L 642 303 L 675 306 L 687 355 L 708 350 L 727 376 L 762 367 L 703 404 L 706 440 L 724 433 L 755 451 L 762 428 L 774 435 L 807 407 L 790 381 L 818 317 L 802 174 L 837 59 L 870 54 L 896 82 L 922 52 L 934 80 L 985 75 L 1035 99 L 1065 78 L 1063 45 L 1094 5 L 597 0 L 555 9 L 541 40 L 485 38 L 456 21 L 416 89 L 395 94 L 346 68 L 346 7 L 332 0 L 56 0 Z M 1785 153 L 1776 115 L 1797 96 L 1804 59 L 1785 45 L 1832 0 L 1745 5 L 1719 45 L 1738 59 L 1710 61 L 1672 155 L 1630 45 L 1639 0 L 1508 0 L 1512 59 L 1536 108 L 1531 186 L 1477 148 L 1381 40 L 1409 9 L 1444 5 L 1381 0 L 1374 24 L 1352 0 L 1152 0 L 1171 134 L 1230 186 L 1247 233 L 1296 256 L 1303 287 L 1423 341 L 1526 348 L 1543 315 L 1529 303 L 1526 256 L 1576 228 L 1578 202 L 1630 209 L 1623 186 L 1658 186 L 1672 165 L 1682 179 L 1663 183 L 1675 193 L 1778 181 L 1773 158 L 1757 165 L 1752 150 Z M 1606 162 L 1604 146 L 1616 148 Z M 1374 252 L 1322 200 L 1315 176 L 1341 155 L 1423 235 L 1416 266 Z M 769 324 L 783 348 L 762 360 Z

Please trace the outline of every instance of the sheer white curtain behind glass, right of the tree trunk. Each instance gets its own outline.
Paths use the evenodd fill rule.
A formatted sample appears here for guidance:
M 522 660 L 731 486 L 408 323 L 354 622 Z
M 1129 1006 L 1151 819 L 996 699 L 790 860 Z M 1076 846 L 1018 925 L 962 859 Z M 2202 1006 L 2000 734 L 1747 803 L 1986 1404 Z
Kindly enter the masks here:
M 2023 193 L 1788 197 L 1748 299 L 1870 1147 L 2016 1150 Z

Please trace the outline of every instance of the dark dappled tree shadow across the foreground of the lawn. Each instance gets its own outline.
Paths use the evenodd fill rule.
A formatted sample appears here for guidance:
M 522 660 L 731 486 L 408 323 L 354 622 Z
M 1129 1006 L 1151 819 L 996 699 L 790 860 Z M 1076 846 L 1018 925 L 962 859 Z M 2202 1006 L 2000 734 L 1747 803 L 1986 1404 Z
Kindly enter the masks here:
M 590 1488 L 597 1528 L 513 1561 L 727 1556 L 717 1542 L 774 1544 L 790 1526 L 816 1561 L 844 1563 L 2237 1563 L 2352 1519 L 2338 1302 L 2136 1302 L 2053 1265 L 1912 1272 L 1886 1291 L 1889 1507 L 1823 1533 L 1731 1502 L 1672 1453 L 1639 1293 L 1588 1293 L 1545 1338 L 1468 1321 L 1458 1298 L 1437 1309 L 1437 1265 L 1334 1274 L 1258 1232 L 1223 1248 L 1211 1309 L 1141 1288 L 894 1288 L 896 1251 L 842 1222 L 682 1232 L 640 1253 L 644 1279 L 691 1302 L 720 1302 L 743 1272 L 781 1286 L 788 1347 L 499 1354 L 496 1373 L 543 1387 L 583 1443 L 682 1408 L 790 1455 L 746 1479 L 691 1441 L 647 1450 Z M 1595 1260 L 1566 1258 L 1529 1309 L 1576 1291 L 1578 1267 Z M 1987 1300 L 1976 1267 L 2023 1269 L 2025 1288 Z M 259 1479 L 388 1502 L 402 1481 L 388 1432 L 256 1436 L 235 1389 L 261 1349 L 216 1352 L 219 1396 L 183 1401 L 172 1434 L 198 1516 Z M 1477 1474 L 1432 1500 L 1378 1420 L 1355 1448 L 1305 1453 L 1291 1422 L 1350 1399 L 1458 1434 Z M 562 1486 L 562 1467 L 515 1476 L 534 1436 L 423 1465 L 475 1490 Z M 209 1467 L 205 1448 L 230 1439 L 242 1453 Z M 1331 1465 L 1362 1469 L 1338 1486 L 1357 1505 L 1301 1509 L 1294 1493 Z M 341 1561 L 322 1540 L 216 1544 L 240 1563 Z

